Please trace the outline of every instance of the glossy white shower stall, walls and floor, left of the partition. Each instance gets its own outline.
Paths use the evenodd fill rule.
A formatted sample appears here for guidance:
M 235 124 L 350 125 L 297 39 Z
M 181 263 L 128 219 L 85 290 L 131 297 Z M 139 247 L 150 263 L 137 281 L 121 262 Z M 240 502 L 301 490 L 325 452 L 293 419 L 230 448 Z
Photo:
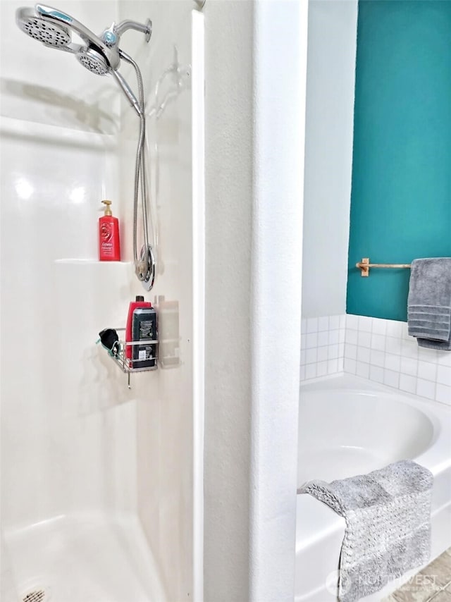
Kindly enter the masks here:
M 160 264 L 147 299 L 172 302 L 178 361 L 132 376 L 128 391 L 95 341 L 101 328 L 124 326 L 128 302 L 143 293 L 130 264 L 137 117 L 111 78 L 20 32 L 21 4 L 0 6 L 1 598 L 35 584 L 65 602 L 182 598 L 192 594 L 190 80 L 175 85 L 158 128 L 149 118 L 159 143 L 160 167 L 151 155 L 149 174 Z M 94 32 L 113 20 L 154 20 L 149 44 L 135 32 L 123 38 L 152 104 L 174 47 L 191 62 L 191 13 L 177 12 L 190 3 L 163 4 L 60 0 L 58 8 Z M 172 80 L 164 84 L 171 90 Z M 104 198 L 121 221 L 121 263 L 97 261 Z

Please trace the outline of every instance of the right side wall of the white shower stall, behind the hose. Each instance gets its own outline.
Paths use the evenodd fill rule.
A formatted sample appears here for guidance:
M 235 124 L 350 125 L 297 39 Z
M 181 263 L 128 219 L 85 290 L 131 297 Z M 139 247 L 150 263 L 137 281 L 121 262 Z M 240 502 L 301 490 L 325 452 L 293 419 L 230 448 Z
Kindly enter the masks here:
M 124 37 L 123 48 L 137 59 L 144 79 L 149 235 L 157 259 L 152 299 L 161 340 L 158 393 L 152 403 L 146 396 L 137 400 L 137 511 L 168 600 L 192 597 L 193 589 L 202 595 L 202 486 L 194 488 L 194 479 L 202 483 L 204 24 L 196 7 L 186 0 L 119 2 L 120 18 L 142 22 L 150 10 L 153 21 L 149 48 L 132 36 Z M 124 73 L 134 82 L 131 68 Z M 139 120 L 125 99 L 121 109 L 121 195 L 128 199 L 130 252 Z

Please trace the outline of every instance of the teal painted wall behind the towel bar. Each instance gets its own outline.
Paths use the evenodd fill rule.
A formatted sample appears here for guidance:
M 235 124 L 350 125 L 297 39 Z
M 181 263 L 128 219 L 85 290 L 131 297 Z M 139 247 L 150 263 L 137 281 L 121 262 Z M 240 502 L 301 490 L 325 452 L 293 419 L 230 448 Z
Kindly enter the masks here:
M 330 233 L 333 235 L 333 233 Z M 451 1 L 360 0 L 347 313 L 407 320 L 410 263 L 451 256 Z

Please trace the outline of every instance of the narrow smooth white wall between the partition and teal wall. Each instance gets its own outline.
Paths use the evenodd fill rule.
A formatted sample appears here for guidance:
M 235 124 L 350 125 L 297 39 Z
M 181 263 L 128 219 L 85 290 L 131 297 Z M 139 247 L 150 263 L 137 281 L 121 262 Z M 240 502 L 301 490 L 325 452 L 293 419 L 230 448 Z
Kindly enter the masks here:
M 309 0 L 302 317 L 346 311 L 357 0 Z

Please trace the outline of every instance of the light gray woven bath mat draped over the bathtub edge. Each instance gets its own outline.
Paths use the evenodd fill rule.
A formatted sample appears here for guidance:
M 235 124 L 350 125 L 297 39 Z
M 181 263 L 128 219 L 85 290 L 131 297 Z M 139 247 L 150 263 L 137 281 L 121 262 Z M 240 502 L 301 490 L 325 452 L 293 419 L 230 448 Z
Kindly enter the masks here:
M 369 474 L 326 483 L 309 481 L 310 493 L 345 518 L 338 598 L 354 602 L 429 560 L 433 475 L 412 460 Z

